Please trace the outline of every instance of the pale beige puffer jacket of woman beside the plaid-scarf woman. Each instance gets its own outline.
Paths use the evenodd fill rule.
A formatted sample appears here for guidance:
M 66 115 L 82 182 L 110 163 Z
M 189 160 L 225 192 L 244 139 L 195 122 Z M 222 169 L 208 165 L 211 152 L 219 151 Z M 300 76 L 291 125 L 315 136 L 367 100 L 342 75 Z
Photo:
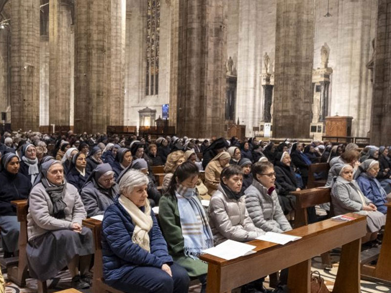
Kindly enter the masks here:
M 244 195 L 239 200 L 230 199 L 220 185 L 209 203 L 208 216 L 215 245 L 227 239 L 250 241 L 265 233 L 254 226 Z

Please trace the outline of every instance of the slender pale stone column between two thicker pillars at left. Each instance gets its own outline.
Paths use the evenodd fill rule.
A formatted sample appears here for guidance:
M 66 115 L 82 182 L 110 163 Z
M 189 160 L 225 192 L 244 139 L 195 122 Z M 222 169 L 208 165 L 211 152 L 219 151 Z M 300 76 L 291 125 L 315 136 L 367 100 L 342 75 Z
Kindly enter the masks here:
M 70 126 L 72 59 L 69 0 L 49 2 L 49 125 Z

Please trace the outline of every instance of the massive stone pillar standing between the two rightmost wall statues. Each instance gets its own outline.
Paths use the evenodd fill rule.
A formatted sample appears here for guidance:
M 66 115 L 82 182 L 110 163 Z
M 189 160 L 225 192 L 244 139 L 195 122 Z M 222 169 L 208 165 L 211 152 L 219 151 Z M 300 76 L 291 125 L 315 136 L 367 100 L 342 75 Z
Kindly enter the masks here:
M 314 1 L 277 0 L 273 137 L 309 137 L 313 37 Z

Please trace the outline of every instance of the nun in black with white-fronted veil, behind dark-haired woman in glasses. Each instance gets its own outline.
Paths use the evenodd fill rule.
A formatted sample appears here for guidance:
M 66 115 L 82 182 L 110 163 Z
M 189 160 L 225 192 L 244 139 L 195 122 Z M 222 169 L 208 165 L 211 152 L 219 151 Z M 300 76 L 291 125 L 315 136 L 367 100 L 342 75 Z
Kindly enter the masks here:
M 288 152 L 279 153 L 274 163 L 276 172 L 276 183 L 278 185 L 278 198 L 284 214 L 295 209 L 296 197 L 289 194 L 291 191 L 299 191 L 296 175 L 291 166 L 291 159 Z

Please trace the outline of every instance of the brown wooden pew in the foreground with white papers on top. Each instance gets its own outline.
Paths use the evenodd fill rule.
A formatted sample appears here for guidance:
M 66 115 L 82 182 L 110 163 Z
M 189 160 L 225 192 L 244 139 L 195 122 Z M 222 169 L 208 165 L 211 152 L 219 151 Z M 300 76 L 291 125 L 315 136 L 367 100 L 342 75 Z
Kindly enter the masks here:
M 349 222 L 331 219 L 303 226 L 286 234 L 303 237 L 286 245 L 254 240 L 255 253 L 232 260 L 203 254 L 208 262 L 208 293 L 231 292 L 232 289 L 262 276 L 289 268 L 290 293 L 310 293 L 311 258 L 342 246 L 339 270 L 333 293 L 360 293 L 361 238 L 367 232 L 366 217 L 349 213 Z

